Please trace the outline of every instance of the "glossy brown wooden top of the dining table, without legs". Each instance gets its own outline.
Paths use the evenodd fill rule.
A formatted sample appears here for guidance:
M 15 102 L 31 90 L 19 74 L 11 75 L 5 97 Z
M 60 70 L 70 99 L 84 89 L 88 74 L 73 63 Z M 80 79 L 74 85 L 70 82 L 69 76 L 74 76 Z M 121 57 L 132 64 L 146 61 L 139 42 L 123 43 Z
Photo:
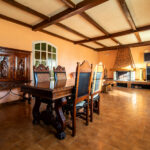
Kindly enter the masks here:
M 21 91 L 24 93 L 30 93 L 35 97 L 55 100 L 71 95 L 73 93 L 74 86 L 74 79 L 59 80 L 57 82 L 50 80 L 50 82 L 39 82 L 38 84 L 26 83 L 21 86 Z

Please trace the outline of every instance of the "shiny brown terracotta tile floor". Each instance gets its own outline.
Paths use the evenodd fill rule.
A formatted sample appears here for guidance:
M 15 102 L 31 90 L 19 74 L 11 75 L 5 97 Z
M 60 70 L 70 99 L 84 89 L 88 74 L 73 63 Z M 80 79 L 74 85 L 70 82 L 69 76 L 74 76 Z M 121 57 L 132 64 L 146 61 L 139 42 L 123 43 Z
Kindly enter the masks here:
M 150 150 L 150 90 L 114 88 L 102 94 L 101 115 L 94 114 L 89 126 L 77 119 L 77 136 L 66 129 L 61 141 L 51 126 L 32 125 L 32 106 L 0 106 L 0 150 Z

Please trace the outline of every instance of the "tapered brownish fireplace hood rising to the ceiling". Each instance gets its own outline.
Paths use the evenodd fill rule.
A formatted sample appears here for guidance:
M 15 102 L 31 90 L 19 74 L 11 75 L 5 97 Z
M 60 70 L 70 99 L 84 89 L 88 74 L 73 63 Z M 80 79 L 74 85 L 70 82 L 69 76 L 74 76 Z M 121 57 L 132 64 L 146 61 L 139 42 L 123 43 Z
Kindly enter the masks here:
M 119 49 L 112 71 L 136 70 L 130 48 Z

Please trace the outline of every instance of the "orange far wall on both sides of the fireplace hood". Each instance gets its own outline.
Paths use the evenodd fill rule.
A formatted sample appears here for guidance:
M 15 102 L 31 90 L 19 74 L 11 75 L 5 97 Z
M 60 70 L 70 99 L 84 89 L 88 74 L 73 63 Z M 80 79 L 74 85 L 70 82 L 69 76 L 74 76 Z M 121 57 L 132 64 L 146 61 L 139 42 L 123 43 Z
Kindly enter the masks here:
M 145 50 L 150 50 L 150 46 L 131 48 L 131 54 L 136 66 L 137 80 L 139 80 L 140 78 L 140 68 L 144 68 L 144 69 L 146 68 L 146 63 L 144 62 Z M 117 55 L 117 50 L 99 52 L 99 60 L 103 62 L 104 65 L 106 66 L 108 71 L 107 73 L 108 78 L 113 78 L 113 72 L 110 69 L 113 68 L 116 55 Z

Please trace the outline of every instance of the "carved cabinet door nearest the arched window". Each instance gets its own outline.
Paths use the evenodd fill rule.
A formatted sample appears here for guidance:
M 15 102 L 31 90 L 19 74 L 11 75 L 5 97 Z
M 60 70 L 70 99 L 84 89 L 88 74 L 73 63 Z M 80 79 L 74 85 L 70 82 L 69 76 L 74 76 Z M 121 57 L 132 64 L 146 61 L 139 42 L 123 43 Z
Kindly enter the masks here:
M 16 71 L 15 71 L 15 78 L 19 81 L 27 81 L 29 79 L 29 56 L 28 55 L 20 55 L 15 56 L 16 62 Z

